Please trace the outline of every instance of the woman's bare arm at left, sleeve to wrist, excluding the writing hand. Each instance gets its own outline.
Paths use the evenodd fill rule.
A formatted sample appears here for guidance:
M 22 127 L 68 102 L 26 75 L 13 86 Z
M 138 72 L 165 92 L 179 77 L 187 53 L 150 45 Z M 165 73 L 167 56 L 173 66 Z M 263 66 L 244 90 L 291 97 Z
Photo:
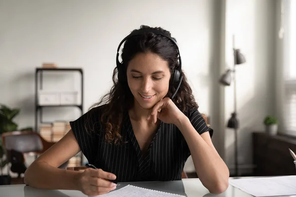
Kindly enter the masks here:
M 74 170 L 59 169 L 80 151 L 73 131 L 37 158 L 26 170 L 24 182 L 35 188 L 78 190 L 78 175 Z

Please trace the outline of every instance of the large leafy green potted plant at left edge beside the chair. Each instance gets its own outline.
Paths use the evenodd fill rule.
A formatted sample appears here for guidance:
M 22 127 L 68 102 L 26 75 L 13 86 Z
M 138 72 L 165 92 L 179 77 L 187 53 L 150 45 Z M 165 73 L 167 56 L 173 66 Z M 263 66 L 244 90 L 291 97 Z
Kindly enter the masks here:
M 32 128 L 18 130 L 18 125 L 13 122 L 12 119 L 14 119 L 19 112 L 20 109 L 18 108 L 10 109 L 5 105 L 0 105 L 0 136 L 2 133 L 9 131 L 33 131 Z M 2 138 L 0 137 L 0 185 L 10 184 L 11 177 L 9 176 L 9 173 L 3 175 L 3 168 L 6 164 L 5 148 L 3 147 Z

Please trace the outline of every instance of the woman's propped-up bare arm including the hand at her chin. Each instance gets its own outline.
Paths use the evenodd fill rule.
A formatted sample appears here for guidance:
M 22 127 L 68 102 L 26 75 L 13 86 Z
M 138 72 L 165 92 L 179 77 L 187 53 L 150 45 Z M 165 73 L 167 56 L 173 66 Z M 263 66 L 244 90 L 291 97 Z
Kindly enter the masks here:
M 152 119 L 154 123 L 157 118 L 176 125 L 182 132 L 202 184 L 213 194 L 224 192 L 228 188 L 229 170 L 216 151 L 209 132 L 200 135 L 170 98 L 156 103 L 147 116 L 147 120 Z

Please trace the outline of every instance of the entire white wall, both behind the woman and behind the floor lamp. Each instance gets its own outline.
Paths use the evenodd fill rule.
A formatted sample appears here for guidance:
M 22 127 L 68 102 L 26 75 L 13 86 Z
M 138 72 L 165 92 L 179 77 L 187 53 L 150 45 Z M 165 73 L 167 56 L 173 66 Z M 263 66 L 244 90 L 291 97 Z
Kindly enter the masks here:
M 232 87 L 218 78 L 232 66 L 232 34 L 247 63 L 237 67 L 239 155 L 252 164 L 251 132 L 274 113 L 277 0 L 0 0 L 0 103 L 21 107 L 16 122 L 34 126 L 34 73 L 43 62 L 84 70 L 84 112 L 111 86 L 118 43 L 140 25 L 161 26 L 177 38 L 200 111 L 211 116 L 213 142 L 232 169 Z M 78 76 L 47 75 L 47 88 L 79 88 Z M 47 110 L 48 120 L 77 118 L 78 110 Z M 225 133 L 225 135 L 224 135 Z M 189 159 L 185 170 L 193 171 Z

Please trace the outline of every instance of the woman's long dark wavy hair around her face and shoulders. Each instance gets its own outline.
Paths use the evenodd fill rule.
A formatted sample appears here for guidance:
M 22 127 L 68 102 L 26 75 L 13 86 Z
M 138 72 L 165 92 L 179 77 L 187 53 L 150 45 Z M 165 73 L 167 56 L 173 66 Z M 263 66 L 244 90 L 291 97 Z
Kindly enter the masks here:
M 151 28 L 142 25 L 140 30 L 158 30 L 166 35 L 171 36 L 171 33 L 160 28 Z M 134 30 L 136 32 L 139 30 Z M 173 38 L 175 39 L 175 38 Z M 175 39 L 176 40 L 176 39 Z M 160 56 L 163 60 L 167 61 L 169 64 L 171 76 L 177 66 L 179 66 L 178 61 L 178 51 L 176 45 L 167 37 L 162 35 L 157 35 L 154 33 L 146 33 L 141 35 L 135 35 L 130 37 L 124 42 L 121 59 L 124 73 L 126 74 L 128 63 L 138 54 L 138 53 L 154 53 Z M 189 108 L 198 108 L 197 103 L 192 95 L 192 90 L 187 83 L 186 76 L 182 70 L 183 80 L 181 82 L 180 89 L 173 99 L 173 102 L 177 107 L 185 113 Z M 122 125 L 122 119 L 124 118 L 124 112 L 131 109 L 134 104 L 134 97 L 128 87 L 127 81 L 121 83 L 117 79 L 117 68 L 115 67 L 112 75 L 113 86 L 109 93 L 104 95 L 98 103 L 91 106 L 96 107 L 105 104 L 104 110 L 101 113 L 101 124 L 105 129 L 105 139 L 107 142 L 118 143 L 122 141 L 120 134 L 120 129 Z M 173 95 L 175 87 L 172 85 L 172 80 L 170 80 L 169 91 L 166 97 Z

